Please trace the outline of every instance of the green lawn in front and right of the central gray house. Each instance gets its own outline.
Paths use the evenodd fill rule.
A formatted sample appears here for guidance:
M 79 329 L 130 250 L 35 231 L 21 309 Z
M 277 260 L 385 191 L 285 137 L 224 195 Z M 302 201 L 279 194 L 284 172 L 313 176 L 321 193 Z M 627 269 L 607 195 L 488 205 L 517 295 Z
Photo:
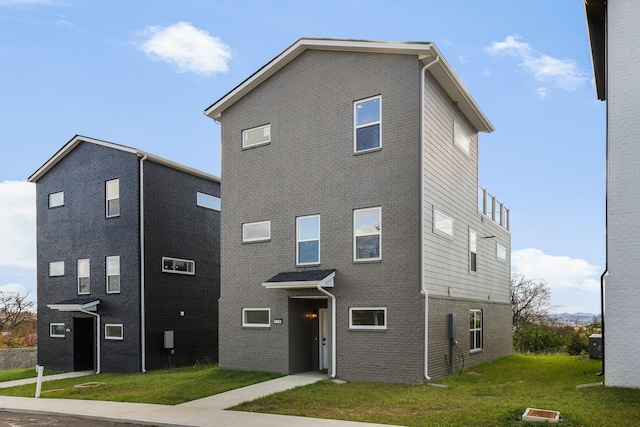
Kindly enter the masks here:
M 406 426 L 539 426 L 527 407 L 560 411 L 563 426 L 640 425 L 640 390 L 602 381 L 582 356 L 513 355 L 435 381 L 446 388 L 322 381 L 233 409 Z

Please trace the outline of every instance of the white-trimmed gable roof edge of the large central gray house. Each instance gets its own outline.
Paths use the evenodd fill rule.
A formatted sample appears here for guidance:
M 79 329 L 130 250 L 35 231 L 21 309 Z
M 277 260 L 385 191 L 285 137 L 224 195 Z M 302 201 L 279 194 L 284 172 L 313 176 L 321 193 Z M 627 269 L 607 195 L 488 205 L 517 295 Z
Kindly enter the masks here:
M 343 52 L 370 52 L 415 55 L 424 65 L 438 59 L 429 72 L 444 88 L 447 95 L 458 104 L 458 108 L 480 132 L 492 132 L 493 125 L 471 97 L 451 66 L 435 44 L 429 42 L 381 42 L 369 40 L 345 40 L 324 38 L 301 38 L 286 50 L 249 76 L 229 93 L 209 106 L 204 114 L 219 120 L 222 112 L 241 99 L 260 83 L 306 50 L 336 50 Z

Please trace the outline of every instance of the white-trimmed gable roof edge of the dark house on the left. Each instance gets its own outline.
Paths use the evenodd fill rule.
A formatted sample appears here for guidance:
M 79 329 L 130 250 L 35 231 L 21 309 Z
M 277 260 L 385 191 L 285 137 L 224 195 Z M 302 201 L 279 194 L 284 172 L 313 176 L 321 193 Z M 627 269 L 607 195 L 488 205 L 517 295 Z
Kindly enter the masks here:
M 40 178 L 42 178 L 44 174 L 46 174 L 52 167 L 54 167 L 60 160 L 62 160 L 81 142 L 87 142 L 89 144 L 100 145 L 102 147 L 108 147 L 114 150 L 124 151 L 126 153 L 132 153 L 137 155 L 140 158 L 146 157 L 148 160 L 151 160 L 154 163 L 159 163 L 161 165 L 188 173 L 190 175 L 198 176 L 200 178 L 208 179 L 209 181 L 220 183 L 219 177 L 208 174 L 206 172 L 202 172 L 198 169 L 190 168 L 189 166 L 185 166 L 180 163 L 167 160 L 165 158 L 156 156 L 154 154 L 147 153 L 146 151 L 138 150 L 137 148 L 127 147 L 126 145 L 114 144 L 113 142 L 102 141 L 100 139 L 89 138 L 82 135 L 76 135 L 73 138 L 71 138 L 71 140 L 67 142 L 60 150 L 58 150 L 56 154 L 54 154 L 49 160 L 47 160 L 42 166 L 40 166 L 38 170 L 36 170 L 33 174 L 31 174 L 31 176 L 27 179 L 27 181 L 37 182 Z

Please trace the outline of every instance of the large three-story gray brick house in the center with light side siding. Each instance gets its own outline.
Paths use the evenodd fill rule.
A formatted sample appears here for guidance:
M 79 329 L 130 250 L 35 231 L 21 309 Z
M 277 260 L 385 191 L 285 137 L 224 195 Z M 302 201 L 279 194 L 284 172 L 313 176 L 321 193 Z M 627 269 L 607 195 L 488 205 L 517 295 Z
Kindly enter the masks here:
M 300 39 L 205 114 L 222 368 L 418 383 L 511 353 L 509 213 L 478 187 L 493 127 L 435 45 Z

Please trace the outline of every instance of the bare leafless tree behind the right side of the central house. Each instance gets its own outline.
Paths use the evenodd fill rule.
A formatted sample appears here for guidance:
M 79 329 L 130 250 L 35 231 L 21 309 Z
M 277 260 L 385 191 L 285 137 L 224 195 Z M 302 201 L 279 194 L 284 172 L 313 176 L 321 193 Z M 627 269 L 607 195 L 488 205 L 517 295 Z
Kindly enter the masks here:
M 511 276 L 511 309 L 513 327 L 540 322 L 549 318 L 551 290 L 544 280 L 527 279 L 523 275 Z

